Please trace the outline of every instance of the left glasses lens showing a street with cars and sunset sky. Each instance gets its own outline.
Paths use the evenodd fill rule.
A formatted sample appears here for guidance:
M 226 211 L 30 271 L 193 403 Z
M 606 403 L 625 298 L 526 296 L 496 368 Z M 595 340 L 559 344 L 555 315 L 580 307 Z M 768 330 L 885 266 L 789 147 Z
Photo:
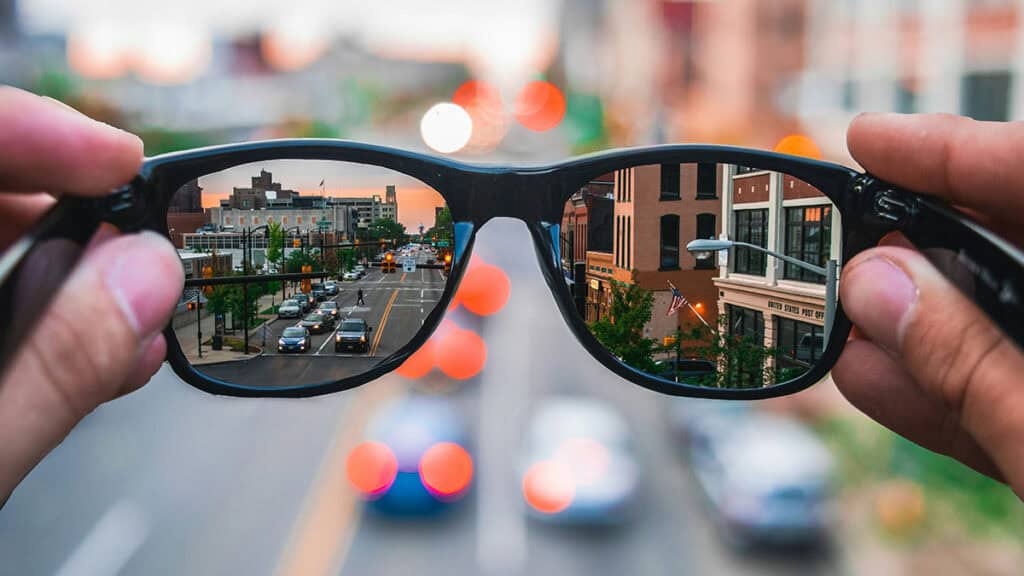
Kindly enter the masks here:
M 453 247 L 440 194 L 338 161 L 273 160 L 186 182 L 167 230 L 186 279 L 181 352 L 207 376 L 261 388 L 358 376 L 409 344 L 441 299 Z M 283 276 L 294 274 L 305 276 Z

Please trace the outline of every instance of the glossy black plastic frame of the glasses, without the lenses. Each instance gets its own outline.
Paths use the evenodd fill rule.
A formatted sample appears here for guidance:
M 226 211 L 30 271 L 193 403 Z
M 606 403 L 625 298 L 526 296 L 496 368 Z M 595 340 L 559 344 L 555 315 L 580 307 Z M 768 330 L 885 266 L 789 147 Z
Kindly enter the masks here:
M 440 301 L 425 319 L 420 331 L 399 351 L 356 376 L 334 382 L 274 388 L 225 382 L 196 370 L 185 359 L 172 327 L 168 326 L 164 334 L 171 367 L 188 384 L 211 394 L 312 397 L 350 389 L 394 370 L 422 346 L 439 325 L 466 271 L 477 232 L 495 217 L 518 218 L 526 223 L 541 270 L 565 322 L 591 356 L 633 383 L 670 396 L 757 400 L 790 395 L 821 380 L 836 364 L 850 333 L 851 323 L 843 311 L 842 301 L 837 302 L 833 330 L 818 362 L 794 380 L 761 388 L 694 386 L 650 376 L 615 359 L 588 329 L 574 307 L 560 269 L 558 243 L 553 241 L 564 204 L 575 191 L 596 176 L 623 168 L 662 163 L 736 164 L 784 172 L 810 183 L 840 211 L 842 262 L 849 262 L 859 252 L 876 246 L 886 234 L 897 231 L 923 250 L 939 248 L 954 251 L 959 255 L 958 261 L 968 262 L 967 268 L 976 276 L 972 285 L 983 285 L 1005 296 L 988 298 L 992 301 L 976 300 L 976 303 L 1018 342 L 1024 340 L 1024 313 L 1016 297 L 1016 287 L 1024 286 L 1024 256 L 1020 251 L 940 200 L 901 190 L 838 164 L 734 147 L 669 145 L 613 150 L 557 164 L 507 167 L 465 164 L 398 149 L 332 139 L 267 140 L 162 155 L 147 159 L 131 183 L 108 198 L 62 200 L 19 241 L 19 247 L 15 246 L 17 253 L 4 254 L 0 259 L 0 327 L 13 323 L 16 305 L 13 285 L 20 264 L 33 245 L 57 236 L 84 245 L 102 221 L 112 222 L 123 232 L 152 230 L 169 236 L 168 206 L 181 186 L 232 166 L 280 159 L 368 164 L 415 177 L 443 197 L 453 221 L 462 230 L 468 230 L 468 235 L 457 235 L 457 240 L 463 245 L 456 247 L 457 258 L 453 262 L 451 278 L 445 283 Z M 969 296 L 974 294 L 969 293 Z M 44 304 L 45 301 L 35 305 L 41 308 Z M 6 367 L 24 334 L 11 336 L 8 335 L 0 346 L 0 368 Z

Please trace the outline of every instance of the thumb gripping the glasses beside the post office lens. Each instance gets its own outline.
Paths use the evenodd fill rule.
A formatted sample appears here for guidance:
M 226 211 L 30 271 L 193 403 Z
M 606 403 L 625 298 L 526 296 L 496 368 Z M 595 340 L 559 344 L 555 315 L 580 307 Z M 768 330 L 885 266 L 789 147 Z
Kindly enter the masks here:
M 955 415 L 1024 494 L 1024 355 L 918 252 L 879 247 L 845 271 L 850 320 Z

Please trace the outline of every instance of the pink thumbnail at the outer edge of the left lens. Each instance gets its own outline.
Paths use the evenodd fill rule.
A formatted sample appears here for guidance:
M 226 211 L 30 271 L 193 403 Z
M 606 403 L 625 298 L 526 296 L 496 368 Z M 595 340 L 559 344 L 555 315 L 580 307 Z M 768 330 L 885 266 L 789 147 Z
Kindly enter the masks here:
M 180 263 L 165 257 L 172 248 L 167 239 L 153 232 L 134 235 L 130 242 L 121 244 L 124 248 L 106 273 L 106 284 L 136 334 L 147 337 L 163 329 L 167 321 L 166 286 L 180 282 L 181 272 L 171 268 L 180 269 Z

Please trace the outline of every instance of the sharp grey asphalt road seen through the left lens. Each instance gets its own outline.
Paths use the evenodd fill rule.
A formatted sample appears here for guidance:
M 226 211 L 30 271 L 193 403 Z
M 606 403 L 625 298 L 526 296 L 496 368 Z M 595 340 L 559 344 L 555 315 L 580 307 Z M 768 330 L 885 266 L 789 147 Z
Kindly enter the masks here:
M 418 260 L 424 263 L 426 254 L 421 254 Z M 308 385 L 360 374 L 409 343 L 440 300 L 444 282 L 437 269 L 409 273 L 399 269 L 389 274 L 371 269 L 359 280 L 339 282 L 340 293 L 332 298 L 338 302 L 339 318 L 361 318 L 373 327 L 365 353 L 335 352 L 334 330 L 311 334 L 312 345 L 304 354 L 279 353 L 278 338 L 285 328 L 297 325 L 299 320 L 276 319 L 266 324 L 265 333 L 256 332 L 254 341 L 263 344 L 263 354 L 251 360 L 204 364 L 200 370 L 251 386 Z M 356 301 L 360 288 L 361 304 Z

